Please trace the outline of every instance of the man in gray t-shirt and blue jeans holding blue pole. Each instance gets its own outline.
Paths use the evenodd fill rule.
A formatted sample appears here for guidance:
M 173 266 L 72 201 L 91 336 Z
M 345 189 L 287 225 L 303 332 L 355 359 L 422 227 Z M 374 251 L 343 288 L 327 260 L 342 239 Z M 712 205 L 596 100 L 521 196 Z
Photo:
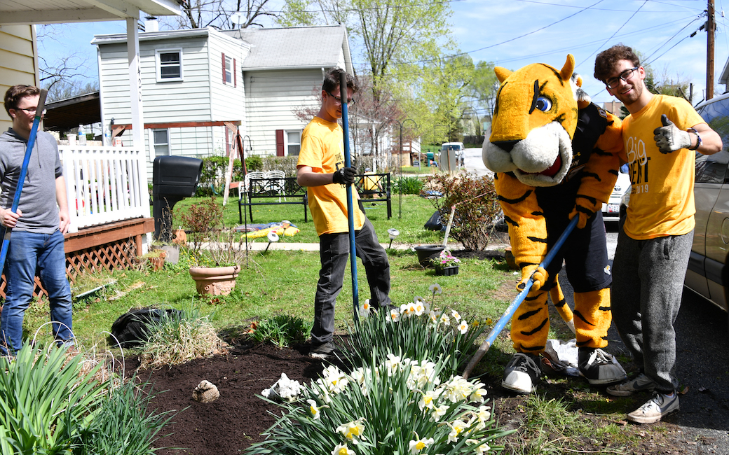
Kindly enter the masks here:
M 38 87 L 10 87 L 5 92 L 5 111 L 12 127 L 0 135 L 0 223 L 12 229 L 4 264 L 7 287 L 0 317 L 0 349 L 11 354 L 23 343 L 23 316 L 33 299 L 36 270 L 48 293 L 56 344 L 74 344 L 63 250 L 69 205 L 58 146 L 47 132 L 37 132 L 17 212 L 11 210 L 39 98 Z

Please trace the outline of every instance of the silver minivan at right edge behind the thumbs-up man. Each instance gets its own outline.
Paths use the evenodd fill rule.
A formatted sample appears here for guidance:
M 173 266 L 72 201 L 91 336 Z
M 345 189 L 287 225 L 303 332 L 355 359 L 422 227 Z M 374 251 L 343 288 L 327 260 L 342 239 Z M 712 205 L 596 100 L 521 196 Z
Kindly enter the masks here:
M 696 111 L 719 133 L 724 146 L 714 155 L 696 153 L 696 228 L 684 285 L 728 310 L 729 94 L 700 103 Z

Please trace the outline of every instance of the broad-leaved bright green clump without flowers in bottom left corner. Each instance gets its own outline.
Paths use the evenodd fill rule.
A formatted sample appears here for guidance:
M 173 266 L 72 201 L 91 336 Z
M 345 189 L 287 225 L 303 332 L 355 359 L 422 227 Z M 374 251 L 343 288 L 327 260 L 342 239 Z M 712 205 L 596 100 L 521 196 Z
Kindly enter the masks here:
M 66 349 L 24 345 L 0 357 L 0 440 L 3 454 L 68 454 L 104 398 L 101 364 L 82 370 Z

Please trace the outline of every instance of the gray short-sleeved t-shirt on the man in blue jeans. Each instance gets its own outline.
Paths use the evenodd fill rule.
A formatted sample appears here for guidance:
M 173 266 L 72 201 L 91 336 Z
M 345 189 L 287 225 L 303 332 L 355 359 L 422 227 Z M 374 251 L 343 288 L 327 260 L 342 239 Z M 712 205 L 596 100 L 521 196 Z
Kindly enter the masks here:
M 0 135 L 0 207 L 12 207 L 17 180 L 28 143 L 10 128 Z M 18 208 L 22 212 L 13 230 L 52 234 L 58 229 L 55 179 L 63 175 L 55 138 L 39 131 L 28 162 Z

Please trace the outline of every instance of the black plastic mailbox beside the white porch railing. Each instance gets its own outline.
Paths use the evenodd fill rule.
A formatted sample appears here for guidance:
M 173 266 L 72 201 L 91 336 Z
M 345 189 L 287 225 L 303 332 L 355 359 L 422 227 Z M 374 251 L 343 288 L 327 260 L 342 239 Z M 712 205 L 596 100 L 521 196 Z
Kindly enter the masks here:
M 155 240 L 172 240 L 172 209 L 195 194 L 203 160 L 192 157 L 157 157 L 152 162 L 152 215 Z

